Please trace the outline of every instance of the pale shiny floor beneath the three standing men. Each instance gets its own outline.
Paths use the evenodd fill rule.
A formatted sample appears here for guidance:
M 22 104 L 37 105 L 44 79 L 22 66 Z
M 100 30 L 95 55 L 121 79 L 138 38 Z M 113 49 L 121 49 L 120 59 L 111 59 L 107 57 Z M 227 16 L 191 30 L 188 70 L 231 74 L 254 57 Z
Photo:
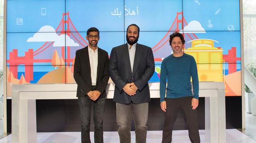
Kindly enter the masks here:
M 93 141 L 93 132 L 90 134 Z M 135 143 L 135 132 L 131 132 L 131 142 Z M 80 132 L 39 132 L 37 143 L 81 143 Z M 200 130 L 201 143 L 204 143 L 204 130 Z M 161 143 L 162 131 L 148 131 L 147 143 Z M 0 143 L 11 143 L 11 135 L 0 139 Z M 104 132 L 104 143 L 119 143 L 117 132 Z M 174 130 L 172 143 L 190 143 L 187 130 Z M 236 129 L 226 130 L 226 143 L 256 143 L 255 140 Z

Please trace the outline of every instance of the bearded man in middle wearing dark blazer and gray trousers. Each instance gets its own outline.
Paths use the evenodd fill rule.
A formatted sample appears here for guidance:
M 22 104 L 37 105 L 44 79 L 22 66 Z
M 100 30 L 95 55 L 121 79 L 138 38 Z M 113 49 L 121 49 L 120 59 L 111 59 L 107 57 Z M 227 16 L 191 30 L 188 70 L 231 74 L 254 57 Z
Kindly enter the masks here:
M 109 74 L 115 83 L 113 101 L 116 102 L 117 124 L 120 143 L 131 142 L 131 123 L 135 123 L 136 143 L 146 143 L 148 81 L 154 74 L 152 49 L 138 44 L 139 27 L 131 24 L 127 28 L 127 43 L 112 49 Z

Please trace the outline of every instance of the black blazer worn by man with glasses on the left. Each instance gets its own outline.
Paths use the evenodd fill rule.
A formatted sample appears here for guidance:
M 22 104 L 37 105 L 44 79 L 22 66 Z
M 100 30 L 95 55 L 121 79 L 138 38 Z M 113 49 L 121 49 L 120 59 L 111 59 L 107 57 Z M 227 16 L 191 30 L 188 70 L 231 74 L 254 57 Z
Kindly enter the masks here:
M 106 97 L 106 85 L 109 79 L 108 61 L 108 53 L 98 48 L 96 90 L 100 91 L 100 97 Z M 77 83 L 76 97 L 85 97 L 92 89 L 88 46 L 76 51 L 74 79 Z

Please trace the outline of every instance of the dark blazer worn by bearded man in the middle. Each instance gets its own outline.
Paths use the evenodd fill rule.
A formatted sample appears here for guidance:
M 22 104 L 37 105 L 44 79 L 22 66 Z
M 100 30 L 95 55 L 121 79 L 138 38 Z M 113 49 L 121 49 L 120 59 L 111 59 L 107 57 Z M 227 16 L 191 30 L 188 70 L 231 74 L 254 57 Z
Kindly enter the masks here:
M 154 74 L 154 56 L 148 46 L 137 44 L 133 69 L 131 70 L 128 45 L 123 44 L 112 49 L 109 59 L 109 74 L 115 83 L 114 102 L 147 103 L 150 101 L 148 81 Z M 123 90 L 127 83 L 134 82 L 138 90 L 129 96 Z

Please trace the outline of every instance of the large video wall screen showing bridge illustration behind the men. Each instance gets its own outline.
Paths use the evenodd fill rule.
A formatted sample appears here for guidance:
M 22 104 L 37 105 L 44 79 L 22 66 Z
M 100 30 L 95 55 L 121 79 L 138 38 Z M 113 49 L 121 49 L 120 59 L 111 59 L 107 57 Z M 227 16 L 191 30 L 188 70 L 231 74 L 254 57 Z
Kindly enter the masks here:
M 12 84 L 75 83 L 87 29 L 100 30 L 98 46 L 110 55 L 132 23 L 154 54 L 150 82 L 159 82 L 169 36 L 180 32 L 200 82 L 224 82 L 226 96 L 241 96 L 239 0 L 7 0 L 7 96 Z

